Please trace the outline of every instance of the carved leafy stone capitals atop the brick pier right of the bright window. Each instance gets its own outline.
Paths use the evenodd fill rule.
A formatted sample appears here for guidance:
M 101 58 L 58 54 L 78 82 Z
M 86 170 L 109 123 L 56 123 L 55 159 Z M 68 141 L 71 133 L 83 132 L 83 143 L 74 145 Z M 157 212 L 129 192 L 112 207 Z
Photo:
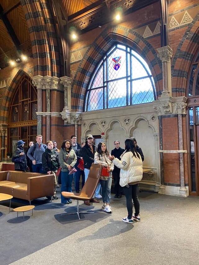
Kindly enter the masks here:
M 155 100 L 153 102 L 153 108 L 157 111 L 158 116 L 165 114 L 186 114 L 186 101 L 186 97 L 160 97 L 158 100 Z

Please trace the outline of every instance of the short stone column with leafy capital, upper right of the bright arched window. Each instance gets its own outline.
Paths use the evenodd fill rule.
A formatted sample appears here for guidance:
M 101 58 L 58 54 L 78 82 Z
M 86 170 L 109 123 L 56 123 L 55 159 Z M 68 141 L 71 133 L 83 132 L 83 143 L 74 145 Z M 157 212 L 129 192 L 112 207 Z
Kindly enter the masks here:
M 171 58 L 173 55 L 172 48 L 167 45 L 157 49 L 158 57 L 162 61 L 163 91 L 162 95 L 172 96 L 171 89 Z

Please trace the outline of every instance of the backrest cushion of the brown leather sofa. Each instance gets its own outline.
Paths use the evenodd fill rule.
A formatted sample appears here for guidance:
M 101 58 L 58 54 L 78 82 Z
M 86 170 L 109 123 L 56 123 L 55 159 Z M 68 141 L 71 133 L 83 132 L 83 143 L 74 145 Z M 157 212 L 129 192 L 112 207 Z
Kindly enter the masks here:
M 39 173 L 32 173 L 32 172 L 21 172 L 21 171 L 8 171 L 7 178 L 8 181 L 20 182 L 27 184 L 27 178 L 40 176 L 42 174 Z

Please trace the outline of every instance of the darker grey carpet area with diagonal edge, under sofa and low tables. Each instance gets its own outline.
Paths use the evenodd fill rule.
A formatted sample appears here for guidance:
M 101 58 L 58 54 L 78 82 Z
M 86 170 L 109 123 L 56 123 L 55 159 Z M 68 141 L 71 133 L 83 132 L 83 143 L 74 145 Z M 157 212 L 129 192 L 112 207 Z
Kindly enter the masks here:
M 60 193 L 57 195 L 60 198 Z M 25 212 L 25 220 L 23 213 L 19 213 L 21 217 L 18 219 L 16 212 L 11 211 L 8 214 L 8 201 L 0 203 L 1 265 L 10 264 L 108 217 L 107 213 L 100 210 L 101 202 L 95 203 L 99 210 L 95 210 L 95 213 L 81 214 L 81 220 L 76 214 L 61 216 L 61 213 L 75 212 L 76 201 L 73 200 L 67 207 L 62 207 L 59 202 L 60 199 L 49 203 L 45 198 L 33 201 L 33 216 L 29 216 L 31 211 Z M 94 207 L 80 203 L 82 210 L 92 210 Z M 29 204 L 24 200 L 12 199 L 12 208 L 24 205 Z

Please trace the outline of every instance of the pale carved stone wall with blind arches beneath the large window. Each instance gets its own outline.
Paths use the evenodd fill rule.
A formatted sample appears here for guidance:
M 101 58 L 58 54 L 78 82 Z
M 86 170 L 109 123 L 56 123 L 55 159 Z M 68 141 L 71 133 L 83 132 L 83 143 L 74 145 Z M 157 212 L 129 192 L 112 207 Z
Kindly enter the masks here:
M 81 138 L 88 133 L 104 133 L 102 141 L 107 143 L 109 152 L 114 148 L 114 140 L 119 140 L 124 148 L 124 140 L 134 136 L 145 156 L 144 167 L 156 169 L 157 186 L 160 184 L 158 131 L 153 103 L 81 113 Z

